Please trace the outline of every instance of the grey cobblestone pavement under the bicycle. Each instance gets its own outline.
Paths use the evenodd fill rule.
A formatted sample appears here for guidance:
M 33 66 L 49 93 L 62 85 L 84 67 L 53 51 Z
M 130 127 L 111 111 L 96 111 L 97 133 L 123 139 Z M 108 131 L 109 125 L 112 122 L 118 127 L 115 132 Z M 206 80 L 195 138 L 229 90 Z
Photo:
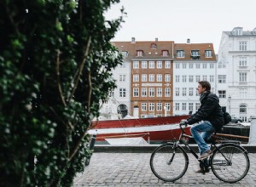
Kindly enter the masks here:
M 212 171 L 195 173 L 198 161 L 189 154 L 189 168 L 183 178 L 166 183 L 156 178 L 149 166 L 150 153 L 94 153 L 90 165 L 74 180 L 74 187 L 82 186 L 256 186 L 256 154 L 249 154 L 250 170 L 236 184 L 224 183 Z

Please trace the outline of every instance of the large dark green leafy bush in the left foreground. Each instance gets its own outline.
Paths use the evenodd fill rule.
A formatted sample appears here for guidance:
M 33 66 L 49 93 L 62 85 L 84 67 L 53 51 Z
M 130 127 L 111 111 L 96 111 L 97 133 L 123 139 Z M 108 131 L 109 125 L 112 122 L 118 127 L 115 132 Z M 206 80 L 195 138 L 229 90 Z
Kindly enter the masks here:
M 110 40 L 119 0 L 0 3 L 0 186 L 71 186 L 86 133 L 121 63 Z M 121 10 L 121 13 L 124 13 Z

